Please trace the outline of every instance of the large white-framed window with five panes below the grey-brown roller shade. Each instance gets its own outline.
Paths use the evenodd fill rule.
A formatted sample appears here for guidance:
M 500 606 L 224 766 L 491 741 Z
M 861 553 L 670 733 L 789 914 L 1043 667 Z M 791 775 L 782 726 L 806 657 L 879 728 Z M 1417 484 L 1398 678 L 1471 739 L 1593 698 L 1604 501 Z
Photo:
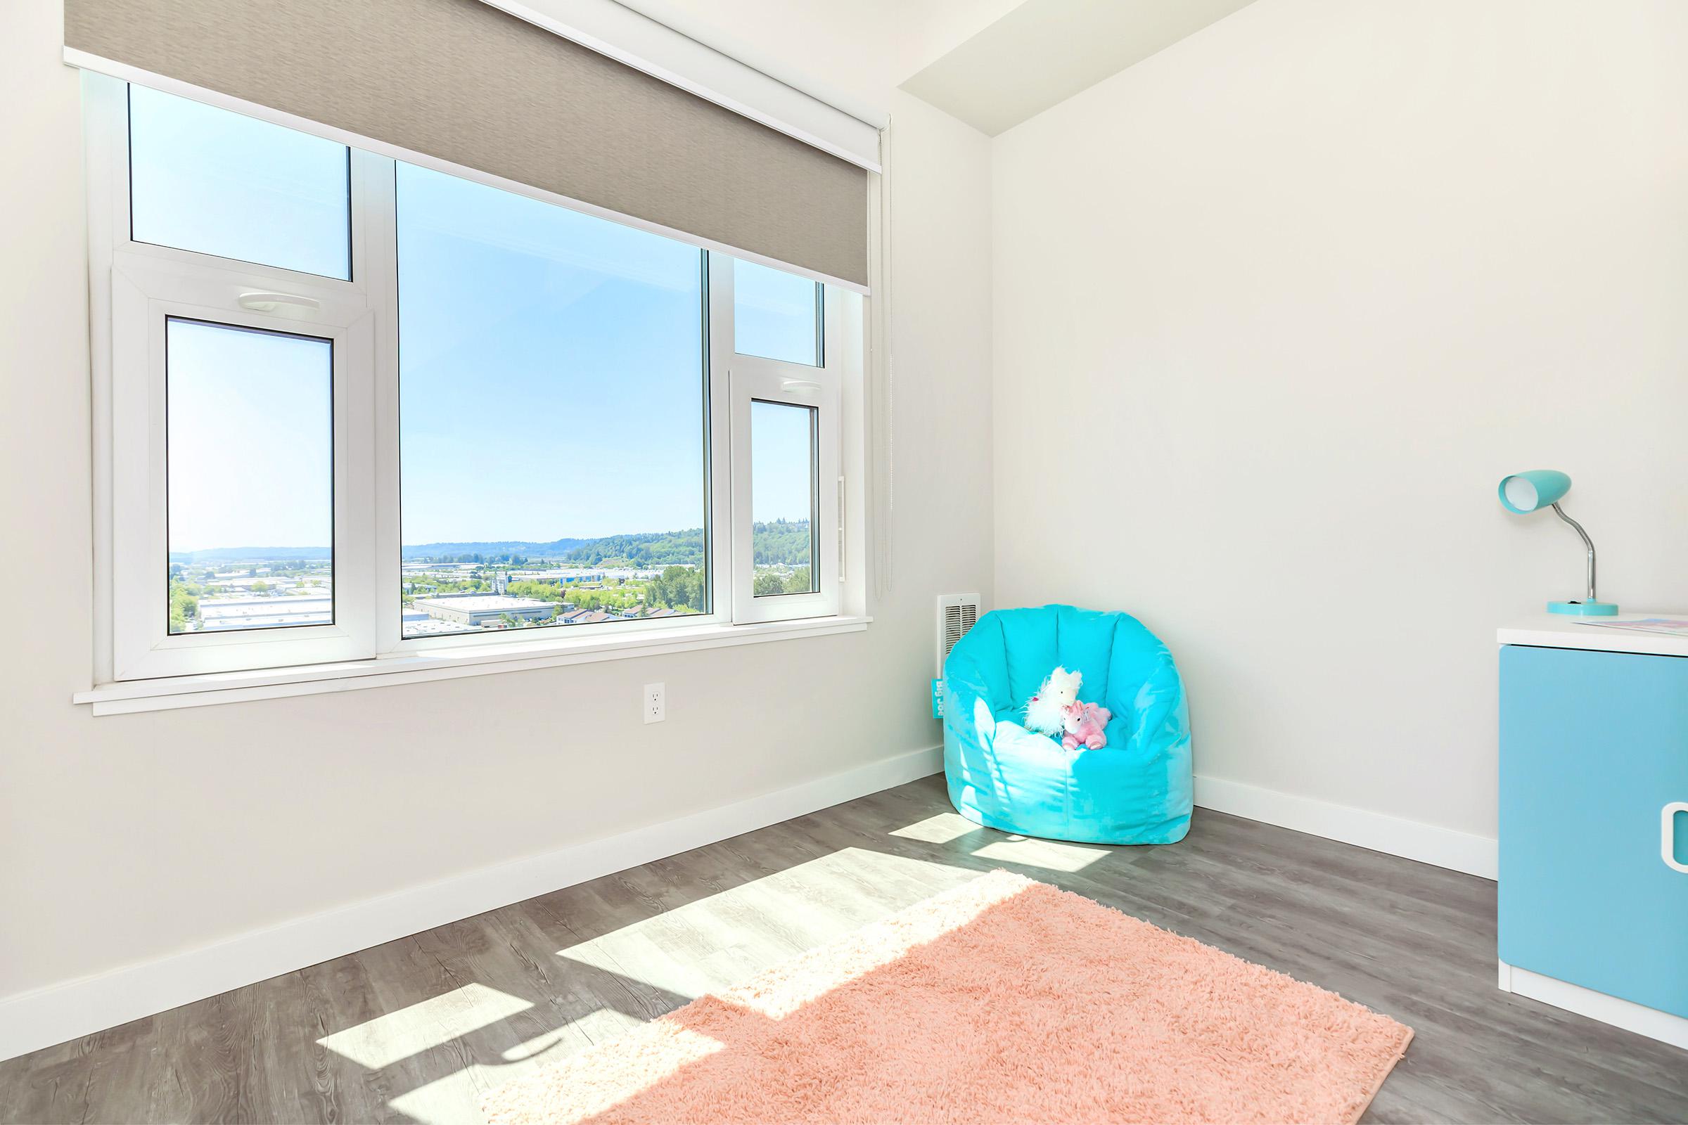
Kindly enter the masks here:
M 111 678 L 839 612 L 859 297 L 88 94 Z

